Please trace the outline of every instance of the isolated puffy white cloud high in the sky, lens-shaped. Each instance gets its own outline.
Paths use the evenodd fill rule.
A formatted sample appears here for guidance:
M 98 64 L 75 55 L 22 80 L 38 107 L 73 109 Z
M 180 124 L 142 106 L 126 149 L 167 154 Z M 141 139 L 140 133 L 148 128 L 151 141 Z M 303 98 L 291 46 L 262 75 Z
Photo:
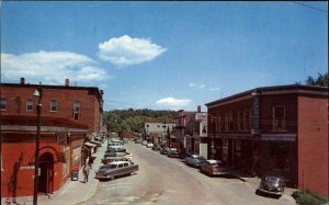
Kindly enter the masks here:
M 99 57 L 117 66 L 137 65 L 160 56 L 166 48 L 150 39 L 132 38 L 128 35 L 113 37 L 99 44 Z

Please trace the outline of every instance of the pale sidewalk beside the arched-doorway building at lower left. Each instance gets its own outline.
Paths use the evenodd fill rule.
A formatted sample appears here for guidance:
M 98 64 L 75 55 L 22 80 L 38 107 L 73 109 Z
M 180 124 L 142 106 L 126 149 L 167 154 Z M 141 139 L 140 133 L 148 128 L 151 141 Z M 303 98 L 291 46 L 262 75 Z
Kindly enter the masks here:
M 75 205 L 82 202 L 88 201 L 91 198 L 95 192 L 99 184 L 99 180 L 94 179 L 95 171 L 102 164 L 102 158 L 106 150 L 106 144 L 103 144 L 102 147 L 98 148 L 98 151 L 93 153 L 95 157 L 94 162 L 92 164 L 92 169 L 89 173 L 89 180 L 84 183 L 82 169 L 79 171 L 79 180 L 77 181 L 69 181 L 63 187 L 59 193 L 54 194 L 53 197 L 45 196 L 38 197 L 39 205 Z M 25 205 L 33 204 L 32 202 L 25 202 Z

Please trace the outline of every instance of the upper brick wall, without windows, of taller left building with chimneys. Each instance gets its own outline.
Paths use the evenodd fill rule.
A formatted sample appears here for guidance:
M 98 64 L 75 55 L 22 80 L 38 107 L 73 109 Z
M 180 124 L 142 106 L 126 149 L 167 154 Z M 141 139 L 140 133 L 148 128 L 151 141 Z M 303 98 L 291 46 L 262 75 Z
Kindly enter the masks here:
M 7 110 L 2 115 L 36 115 L 34 111 L 26 111 L 26 100 L 33 100 L 33 92 L 37 86 L 13 87 L 1 86 L 1 99 L 7 100 Z M 56 100 L 58 110 L 50 112 L 50 101 Z M 94 92 L 89 89 L 77 89 L 70 87 L 45 87 L 43 88 L 42 116 L 57 116 L 73 119 L 73 102 L 81 104 L 79 123 L 89 125 L 90 132 L 99 130 L 100 126 L 100 102 Z M 37 101 L 34 101 L 34 105 Z

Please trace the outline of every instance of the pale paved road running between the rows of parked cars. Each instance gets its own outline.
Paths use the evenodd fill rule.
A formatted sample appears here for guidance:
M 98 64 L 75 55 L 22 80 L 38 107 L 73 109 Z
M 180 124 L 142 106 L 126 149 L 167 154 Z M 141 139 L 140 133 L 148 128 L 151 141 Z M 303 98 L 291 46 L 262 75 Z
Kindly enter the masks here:
M 97 194 L 86 205 L 292 205 L 291 196 L 270 198 L 254 194 L 256 185 L 234 178 L 209 178 L 179 159 L 168 158 L 139 144 L 128 143 L 135 155 L 137 174 L 100 182 Z

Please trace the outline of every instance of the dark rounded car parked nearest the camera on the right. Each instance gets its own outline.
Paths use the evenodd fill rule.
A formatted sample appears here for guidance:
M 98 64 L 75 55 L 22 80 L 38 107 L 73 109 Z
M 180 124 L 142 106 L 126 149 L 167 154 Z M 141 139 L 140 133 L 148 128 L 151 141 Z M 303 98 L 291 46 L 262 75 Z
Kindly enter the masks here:
M 284 192 L 285 183 L 284 179 L 275 175 L 265 175 L 262 178 L 257 192 L 272 194 L 275 196 L 282 196 Z

